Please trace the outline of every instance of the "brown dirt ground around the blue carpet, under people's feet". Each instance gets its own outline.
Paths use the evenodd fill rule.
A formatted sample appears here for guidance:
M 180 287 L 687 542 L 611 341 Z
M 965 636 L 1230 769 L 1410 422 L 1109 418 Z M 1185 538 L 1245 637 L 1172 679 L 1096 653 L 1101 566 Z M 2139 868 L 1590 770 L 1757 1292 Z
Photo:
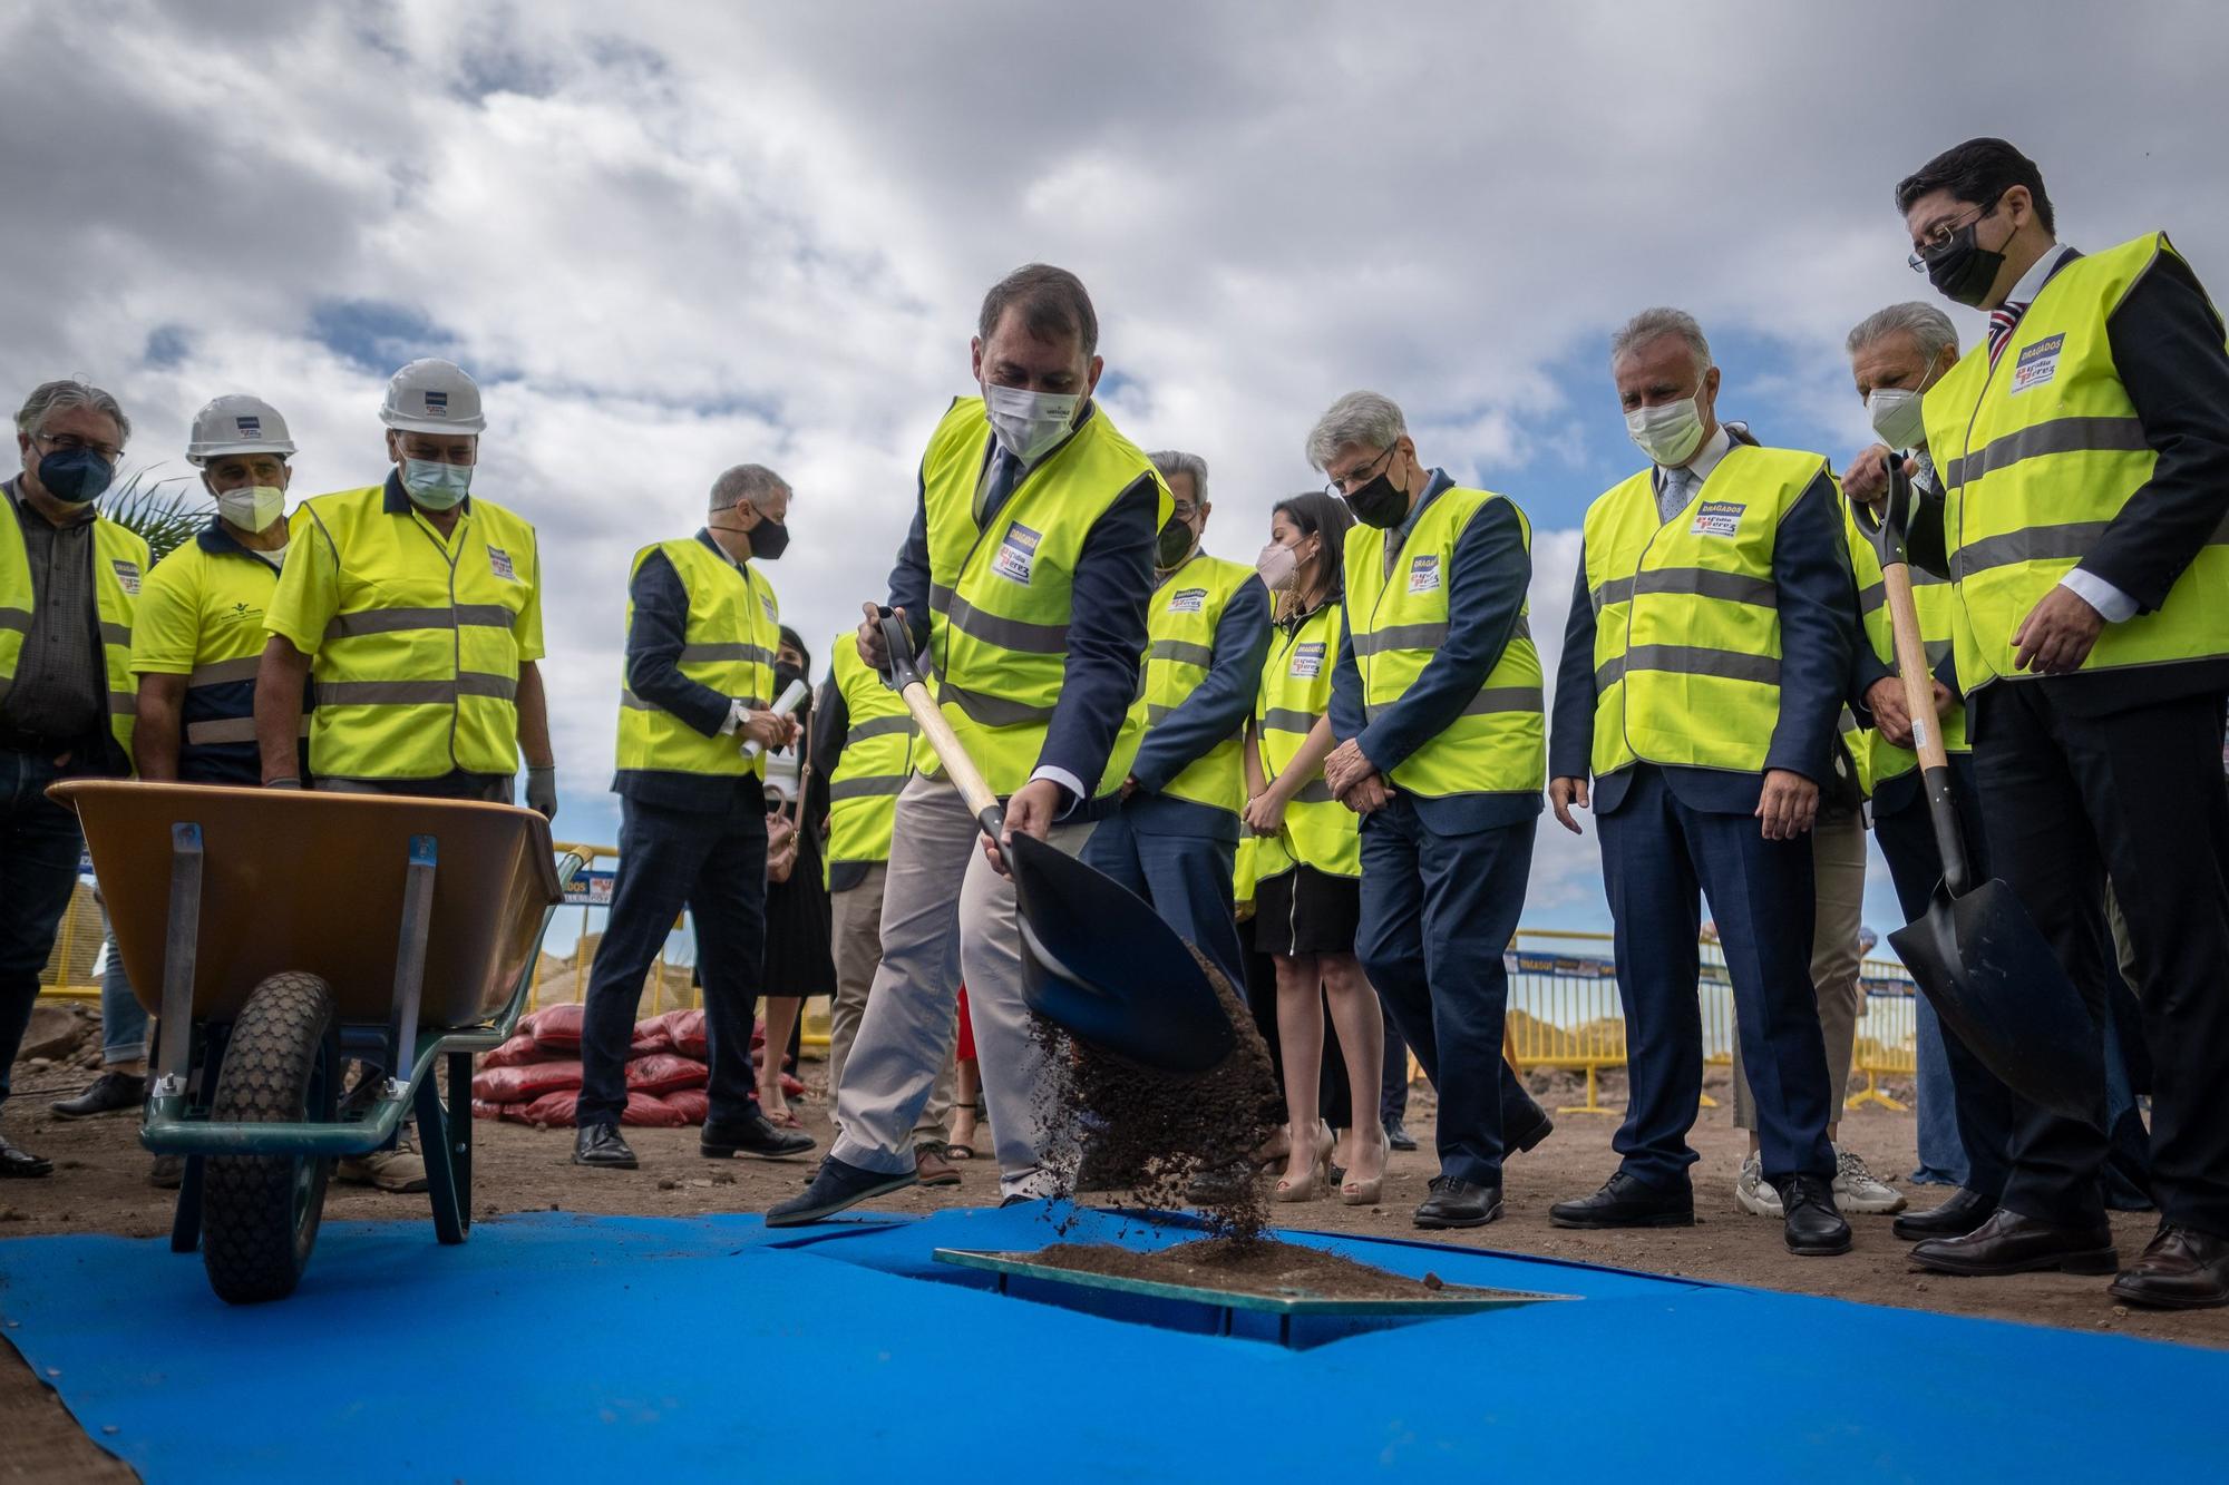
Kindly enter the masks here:
M 818 1072 L 807 1068 L 807 1081 Z M 1569 1195 L 1594 1191 L 1616 1166 L 1609 1137 L 1616 1115 L 1558 1113 L 1556 1135 L 1509 1166 L 1507 1213 L 1469 1233 L 1431 1233 L 1435 1242 L 1489 1246 L 1511 1253 L 1676 1273 L 1730 1284 L 1756 1284 L 1794 1293 L 1899 1304 L 1953 1316 L 1990 1316 L 2082 1331 L 2111 1331 L 2147 1340 L 2229 1349 L 2229 1311 L 2153 1313 L 2113 1304 L 2106 1280 L 2073 1275 L 2019 1275 L 2002 1280 L 1957 1280 L 1919 1275 L 1906 1262 L 1906 1244 L 1888 1233 L 1888 1217 L 1855 1217 L 1857 1251 L 1846 1258 L 1794 1258 L 1781 1244 L 1779 1222 L 1752 1217 L 1734 1202 L 1734 1173 L 1745 1135 L 1732 1124 L 1732 1099 L 1723 1072 L 1712 1072 L 1716 1108 L 1703 1108 L 1694 1128 L 1701 1164 L 1696 1182 L 1696 1226 L 1629 1233 L 1569 1233 L 1549 1226 L 1547 1209 Z M 172 1193 L 147 1184 L 147 1155 L 138 1148 L 129 1115 L 65 1122 L 45 1115 L 47 1101 L 80 1088 L 82 1075 L 29 1072 L 18 1068 L 9 1108 L 9 1137 L 56 1162 L 42 1182 L 0 1186 L 0 1282 L 7 1271 L 9 1238 L 40 1233 L 125 1233 L 156 1238 L 169 1231 Z M 1576 1081 L 1536 1075 L 1542 1099 L 1578 1101 Z M 1895 1090 L 1892 1090 L 1895 1093 Z M 1618 1104 L 1616 1077 L 1603 1101 Z M 827 1148 L 827 1104 L 818 1093 L 800 1104 L 807 1128 Z M 1431 1157 L 1431 1093 L 1418 1086 L 1409 1113 L 1411 1133 L 1424 1148 L 1393 1155 L 1380 1206 L 1340 1206 L 1337 1200 L 1275 1206 L 1279 1226 L 1364 1233 L 1382 1238 L 1427 1238 L 1409 1222 L 1424 1200 L 1424 1182 L 1438 1171 Z M 571 1130 L 535 1130 L 517 1124 L 477 1126 L 475 1206 L 479 1215 L 510 1211 L 597 1211 L 637 1215 L 700 1215 L 765 1211 L 796 1193 L 809 1177 L 802 1162 L 707 1162 L 698 1155 L 695 1130 L 629 1130 L 642 1155 L 642 1171 L 582 1171 L 566 1164 Z M 1861 1153 L 1877 1175 L 1904 1188 L 1915 1206 L 1933 1206 L 1948 1195 L 1939 1186 L 1904 1186 L 1915 1164 L 1915 1119 L 1910 1113 L 1868 1106 L 1846 1117 L 1843 1144 Z M 934 1211 L 941 1206 L 987 1206 L 999 1200 L 999 1177 L 990 1162 L 963 1162 L 963 1182 L 943 1191 L 905 1191 L 874 1206 L 887 1211 Z M 334 1186 L 328 1220 L 428 1222 L 426 1197 L 383 1195 Z M 2115 1215 L 2113 1231 L 2122 1258 L 2149 1242 L 2153 1217 Z M 1048 1229 L 1048 1242 L 1054 1233 Z M 428 1226 L 426 1242 L 432 1242 Z M 0 1331 L 4 1336 L 4 1331 Z M 100 1454 L 69 1414 L 58 1407 L 13 1351 L 0 1349 L 0 1481 L 107 1481 L 132 1478 L 123 1465 Z

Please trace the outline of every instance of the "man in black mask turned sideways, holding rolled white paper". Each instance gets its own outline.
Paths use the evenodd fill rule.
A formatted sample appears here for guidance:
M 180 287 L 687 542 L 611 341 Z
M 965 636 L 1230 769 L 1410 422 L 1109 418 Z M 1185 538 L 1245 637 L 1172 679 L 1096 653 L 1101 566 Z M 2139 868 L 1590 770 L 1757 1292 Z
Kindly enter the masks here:
M 704 981 L 711 1159 L 780 1159 L 814 1148 L 758 1106 L 751 1019 L 767 948 L 767 749 L 798 722 L 771 711 L 780 604 L 758 564 L 789 546 L 789 486 L 762 464 L 713 479 L 709 520 L 691 537 L 635 553 L 626 584 L 620 689 L 620 872 L 595 952 L 580 1032 L 582 1088 L 573 1164 L 635 1168 L 620 1137 L 626 1050 L 642 979 L 682 908 Z M 780 1057 L 780 1048 L 769 1048 Z

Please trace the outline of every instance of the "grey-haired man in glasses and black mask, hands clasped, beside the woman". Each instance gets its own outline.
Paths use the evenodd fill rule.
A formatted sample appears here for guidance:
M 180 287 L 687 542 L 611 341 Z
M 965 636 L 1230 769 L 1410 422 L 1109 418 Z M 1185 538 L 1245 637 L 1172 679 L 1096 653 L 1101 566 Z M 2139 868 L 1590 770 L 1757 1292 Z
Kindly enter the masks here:
M 1525 908 L 1547 722 L 1525 618 L 1531 524 L 1427 466 L 1393 399 L 1349 392 L 1308 433 L 1346 533 L 1346 609 L 1324 758 L 1362 816 L 1355 957 L 1440 1095 L 1438 1155 L 1413 1222 L 1485 1226 L 1502 1159 L 1549 1117 L 1502 1061 L 1502 950 Z M 1355 1124 L 1369 1128 L 1364 1110 Z M 1300 1139 L 1304 1130 L 1293 1130 Z M 1380 1195 L 1384 1146 L 1349 1151 L 1340 1197 Z

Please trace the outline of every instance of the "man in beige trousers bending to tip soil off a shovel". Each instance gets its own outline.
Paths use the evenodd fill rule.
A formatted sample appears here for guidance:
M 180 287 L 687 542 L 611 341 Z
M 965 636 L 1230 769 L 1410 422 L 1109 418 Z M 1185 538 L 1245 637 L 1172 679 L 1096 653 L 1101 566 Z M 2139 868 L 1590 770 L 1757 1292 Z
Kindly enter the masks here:
M 921 459 L 921 502 L 889 606 L 927 642 L 943 718 L 1005 800 L 1005 834 L 1074 854 L 1094 800 L 1137 756 L 1139 662 L 1155 540 L 1172 502 L 1152 462 L 1092 404 L 1103 368 L 1083 283 L 1043 263 L 983 299 L 981 397 L 952 404 Z M 860 658 L 887 669 L 876 606 Z M 1008 1202 L 1052 1195 L 1043 1050 L 1023 1006 L 1014 885 L 979 850 L 943 769 L 898 794 L 883 892 L 883 965 L 836 1090 L 838 1137 L 805 1195 L 767 1213 L 802 1226 L 914 1184 L 912 1130 L 952 1050 L 958 986 Z

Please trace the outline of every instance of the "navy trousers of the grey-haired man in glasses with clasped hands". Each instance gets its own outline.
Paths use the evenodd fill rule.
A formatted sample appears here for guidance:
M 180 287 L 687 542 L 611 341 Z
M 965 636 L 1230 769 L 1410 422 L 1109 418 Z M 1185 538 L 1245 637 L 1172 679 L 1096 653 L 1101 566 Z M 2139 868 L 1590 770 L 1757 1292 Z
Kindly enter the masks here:
M 1442 836 L 1395 794 L 1362 821 L 1355 957 L 1440 1095 L 1440 1175 L 1502 1184 L 1502 1130 L 1540 1119 L 1502 1061 L 1509 970 L 1538 818 Z

